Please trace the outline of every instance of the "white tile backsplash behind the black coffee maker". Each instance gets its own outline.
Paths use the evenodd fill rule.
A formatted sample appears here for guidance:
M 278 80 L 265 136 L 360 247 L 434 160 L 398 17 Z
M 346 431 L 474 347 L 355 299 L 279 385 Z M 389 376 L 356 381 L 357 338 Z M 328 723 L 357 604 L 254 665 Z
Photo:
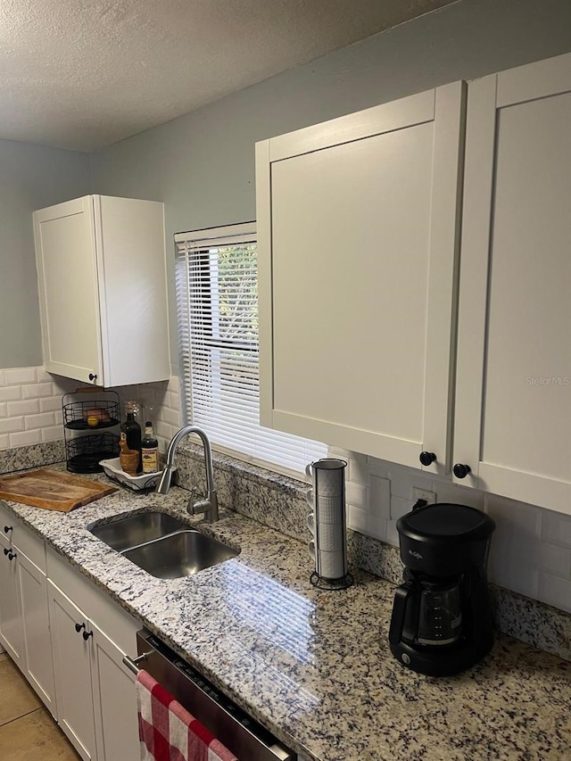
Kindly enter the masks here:
M 330 453 L 349 463 L 347 523 L 354 531 L 398 546 L 396 521 L 418 500 L 418 490 L 433 492 L 439 502 L 484 509 L 496 524 L 490 581 L 571 613 L 571 516 L 356 452 L 335 449 Z

